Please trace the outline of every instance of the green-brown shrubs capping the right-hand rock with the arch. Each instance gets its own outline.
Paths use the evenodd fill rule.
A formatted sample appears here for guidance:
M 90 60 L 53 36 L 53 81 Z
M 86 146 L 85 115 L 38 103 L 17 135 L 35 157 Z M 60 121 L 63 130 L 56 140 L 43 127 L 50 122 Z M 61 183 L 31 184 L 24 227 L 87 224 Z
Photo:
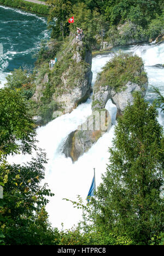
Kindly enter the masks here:
M 109 85 L 119 91 L 129 81 L 140 86 L 147 83 L 147 74 L 143 71 L 143 61 L 137 55 L 119 54 L 103 67 L 95 86 Z

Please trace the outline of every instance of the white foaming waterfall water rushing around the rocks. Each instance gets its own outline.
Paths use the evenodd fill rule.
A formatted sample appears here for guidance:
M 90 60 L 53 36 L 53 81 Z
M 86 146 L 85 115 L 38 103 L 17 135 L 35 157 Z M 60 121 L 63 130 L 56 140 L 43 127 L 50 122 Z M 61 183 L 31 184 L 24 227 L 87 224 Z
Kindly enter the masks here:
M 145 63 L 156 65 L 160 63 L 160 54 L 164 52 L 164 45 L 144 45 L 132 46 L 124 49 L 124 51 L 131 51 L 143 57 Z M 153 52 L 153 54 L 149 54 Z M 97 72 L 109 61 L 112 54 L 96 56 L 92 60 L 93 84 L 95 83 Z M 150 65 L 148 65 L 150 66 Z M 156 67 L 146 67 L 149 84 L 154 85 L 162 91 L 163 90 L 163 71 L 164 69 Z M 148 89 L 146 99 L 153 101 L 155 94 L 153 94 L 151 86 Z M 113 121 L 115 119 L 115 108 L 108 102 L 107 109 L 112 108 Z M 37 139 L 39 140 L 39 147 L 44 148 L 49 159 L 46 165 L 45 181 L 49 184 L 52 193 L 55 196 L 50 198 L 50 203 L 46 207 L 52 226 L 61 228 L 61 223 L 64 228 L 71 228 L 77 224 L 81 219 L 81 212 L 73 208 L 71 202 L 63 201 L 63 198 L 76 200 L 77 195 L 80 195 L 85 201 L 87 193 L 90 189 L 90 184 L 93 178 L 93 168 L 96 168 L 96 185 L 101 183 L 101 174 L 106 172 L 106 165 L 108 164 L 109 153 L 108 148 L 112 146 L 112 139 L 114 135 L 114 126 L 112 129 L 98 139 L 97 143 L 79 158 L 74 164 L 70 158 L 65 158 L 62 154 L 62 145 L 66 141 L 68 134 L 77 129 L 79 124 L 82 124 L 87 116 L 91 114 L 91 100 L 81 104 L 77 109 L 73 110 L 71 114 L 63 115 L 51 121 L 44 127 L 37 129 Z M 163 121 L 163 116 L 159 117 L 160 122 Z M 10 161 L 16 163 L 30 160 L 27 156 L 15 156 L 10 158 Z

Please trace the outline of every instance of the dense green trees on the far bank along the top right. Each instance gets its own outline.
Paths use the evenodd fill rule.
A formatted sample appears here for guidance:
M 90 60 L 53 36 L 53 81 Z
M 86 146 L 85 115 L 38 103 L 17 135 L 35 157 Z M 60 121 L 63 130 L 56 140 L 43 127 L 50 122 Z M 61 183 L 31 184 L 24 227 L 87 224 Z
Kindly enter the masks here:
M 93 49 L 110 45 L 125 45 L 154 40 L 164 29 L 163 2 L 155 1 L 58 1 L 48 0 L 51 36 L 63 39 L 82 27 L 93 43 Z M 62 14 L 61 14 L 62 6 Z M 74 25 L 68 19 L 74 16 Z

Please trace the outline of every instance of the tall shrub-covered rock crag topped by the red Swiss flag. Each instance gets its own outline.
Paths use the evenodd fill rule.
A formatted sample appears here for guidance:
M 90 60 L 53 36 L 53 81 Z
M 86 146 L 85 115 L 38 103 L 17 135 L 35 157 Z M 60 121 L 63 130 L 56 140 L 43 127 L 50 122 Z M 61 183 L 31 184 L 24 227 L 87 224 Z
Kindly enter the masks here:
M 80 103 L 85 102 L 92 92 L 92 53 L 85 42 L 69 42 L 57 54 L 57 63 L 49 68 L 38 69 L 36 92 L 32 101 L 37 105 L 36 120 L 39 124 L 57 117 L 56 113 L 70 113 Z M 43 71 L 43 70 L 44 71 Z M 40 121 L 40 118 L 42 121 Z

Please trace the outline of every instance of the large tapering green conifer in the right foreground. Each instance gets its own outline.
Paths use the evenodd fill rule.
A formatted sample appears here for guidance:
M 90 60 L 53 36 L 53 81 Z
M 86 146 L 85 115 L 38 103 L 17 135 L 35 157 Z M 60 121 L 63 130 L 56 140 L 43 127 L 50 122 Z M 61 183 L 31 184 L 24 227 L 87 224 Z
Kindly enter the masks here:
M 115 128 L 110 164 L 97 191 L 97 225 L 148 244 L 163 230 L 164 139 L 155 106 L 139 94 Z

